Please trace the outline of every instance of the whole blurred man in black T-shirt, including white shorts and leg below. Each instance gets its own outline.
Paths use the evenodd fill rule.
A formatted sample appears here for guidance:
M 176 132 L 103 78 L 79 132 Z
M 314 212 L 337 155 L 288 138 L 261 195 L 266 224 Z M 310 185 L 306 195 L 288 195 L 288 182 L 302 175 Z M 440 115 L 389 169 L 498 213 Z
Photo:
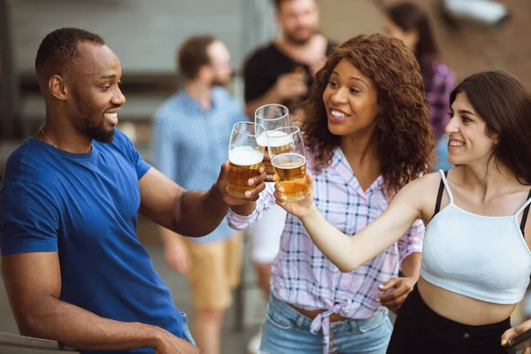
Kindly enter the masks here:
M 284 104 L 292 122 L 301 118 L 301 104 L 313 76 L 324 65 L 335 43 L 319 34 L 319 8 L 315 0 L 271 0 L 280 33 L 253 52 L 243 68 L 245 112 L 252 119 L 264 104 Z M 258 285 L 269 296 L 271 266 L 278 253 L 286 212 L 273 205 L 249 228 L 252 261 Z M 251 338 L 250 354 L 258 353 L 261 330 Z

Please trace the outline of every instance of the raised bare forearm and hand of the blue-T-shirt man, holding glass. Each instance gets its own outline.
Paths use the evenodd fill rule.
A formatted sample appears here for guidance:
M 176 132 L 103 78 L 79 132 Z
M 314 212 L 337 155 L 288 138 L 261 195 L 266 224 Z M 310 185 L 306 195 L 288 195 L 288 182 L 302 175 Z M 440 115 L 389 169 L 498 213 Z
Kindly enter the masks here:
M 139 212 L 177 234 L 192 237 L 208 235 L 219 226 L 229 206 L 257 200 L 258 193 L 266 188 L 266 173 L 262 165 L 260 174 L 248 181 L 250 186 L 254 186 L 246 192 L 248 199 L 230 196 L 225 190 L 229 169 L 226 161 L 212 188 L 198 192 L 183 189 L 155 168 L 150 168 L 139 181 L 142 200 Z

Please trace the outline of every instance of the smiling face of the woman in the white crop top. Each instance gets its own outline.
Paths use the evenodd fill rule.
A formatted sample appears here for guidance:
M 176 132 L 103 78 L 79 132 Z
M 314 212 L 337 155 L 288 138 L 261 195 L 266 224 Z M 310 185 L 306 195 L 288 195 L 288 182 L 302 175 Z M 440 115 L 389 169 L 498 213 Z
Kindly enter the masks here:
M 450 136 L 448 161 L 452 165 L 486 163 L 492 156 L 496 137 L 487 136 L 487 124 L 468 102 L 466 94 L 458 93 L 451 104 L 450 122 L 446 126 Z

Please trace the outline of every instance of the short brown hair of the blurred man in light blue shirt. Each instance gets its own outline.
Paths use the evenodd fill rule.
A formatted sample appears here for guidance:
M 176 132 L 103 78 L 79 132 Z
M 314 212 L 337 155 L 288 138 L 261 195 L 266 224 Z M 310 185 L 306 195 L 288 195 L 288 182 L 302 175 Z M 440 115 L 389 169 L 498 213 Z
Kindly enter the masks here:
M 181 44 L 177 65 L 186 79 L 196 79 L 201 67 L 211 64 L 207 49 L 216 41 L 213 35 L 193 35 Z

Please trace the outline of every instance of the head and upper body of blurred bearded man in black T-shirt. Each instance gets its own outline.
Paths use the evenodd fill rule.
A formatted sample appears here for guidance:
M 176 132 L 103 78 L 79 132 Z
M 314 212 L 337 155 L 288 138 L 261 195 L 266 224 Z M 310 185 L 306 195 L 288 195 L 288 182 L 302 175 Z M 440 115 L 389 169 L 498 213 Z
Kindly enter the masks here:
M 247 58 L 245 111 L 249 117 L 264 104 L 284 104 L 295 113 L 312 78 L 325 64 L 334 43 L 319 34 L 315 0 L 273 0 L 279 35 Z

